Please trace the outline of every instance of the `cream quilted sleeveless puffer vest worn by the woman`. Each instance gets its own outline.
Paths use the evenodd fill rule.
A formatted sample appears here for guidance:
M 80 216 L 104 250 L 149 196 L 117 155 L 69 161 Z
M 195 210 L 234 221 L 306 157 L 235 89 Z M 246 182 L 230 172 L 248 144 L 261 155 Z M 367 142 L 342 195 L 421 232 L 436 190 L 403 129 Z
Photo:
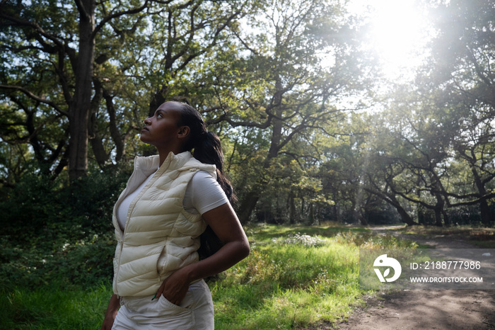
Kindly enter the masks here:
M 158 168 L 159 157 L 136 157 L 134 172 L 113 210 L 115 249 L 113 292 L 121 297 L 154 295 L 161 283 L 177 269 L 197 262 L 199 235 L 206 224 L 201 215 L 184 210 L 187 184 L 197 171 L 216 178 L 216 167 L 203 164 L 190 152 L 170 152 L 160 169 L 132 200 L 124 232 L 116 210 Z

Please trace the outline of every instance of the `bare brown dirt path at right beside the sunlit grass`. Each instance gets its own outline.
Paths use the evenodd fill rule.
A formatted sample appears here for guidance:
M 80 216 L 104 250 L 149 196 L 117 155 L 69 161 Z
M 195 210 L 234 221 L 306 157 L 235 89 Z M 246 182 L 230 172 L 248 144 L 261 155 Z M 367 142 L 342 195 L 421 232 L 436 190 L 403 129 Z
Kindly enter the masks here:
M 402 238 L 437 249 L 476 248 L 460 237 Z M 383 290 L 365 301 L 334 329 L 495 329 L 495 290 Z

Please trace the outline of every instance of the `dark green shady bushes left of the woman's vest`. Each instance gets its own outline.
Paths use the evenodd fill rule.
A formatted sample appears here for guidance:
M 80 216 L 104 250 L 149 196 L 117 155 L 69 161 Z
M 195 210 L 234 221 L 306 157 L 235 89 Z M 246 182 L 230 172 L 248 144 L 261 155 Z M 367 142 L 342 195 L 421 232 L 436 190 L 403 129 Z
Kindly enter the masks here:
M 0 202 L 0 285 L 95 285 L 112 276 L 112 208 L 127 173 L 93 173 L 72 186 L 27 175 Z

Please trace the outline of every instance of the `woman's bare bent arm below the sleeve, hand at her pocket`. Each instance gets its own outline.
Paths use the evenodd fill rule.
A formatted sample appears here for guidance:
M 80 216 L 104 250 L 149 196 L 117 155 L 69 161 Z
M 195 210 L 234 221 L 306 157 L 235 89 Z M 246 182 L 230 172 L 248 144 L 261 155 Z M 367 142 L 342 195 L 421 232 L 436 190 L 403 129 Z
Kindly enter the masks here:
M 203 219 L 222 241 L 223 246 L 208 258 L 180 268 L 166 278 L 158 289 L 157 298 L 163 294 L 168 301 L 180 305 L 194 280 L 226 271 L 249 255 L 248 237 L 230 203 L 204 212 Z

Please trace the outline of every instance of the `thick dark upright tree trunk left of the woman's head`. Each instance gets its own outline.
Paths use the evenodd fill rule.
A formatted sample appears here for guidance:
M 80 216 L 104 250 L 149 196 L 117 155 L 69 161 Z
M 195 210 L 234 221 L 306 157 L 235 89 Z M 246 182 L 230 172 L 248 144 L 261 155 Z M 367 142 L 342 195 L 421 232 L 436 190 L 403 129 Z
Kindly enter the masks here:
M 69 104 L 69 178 L 86 175 L 88 170 L 88 121 L 91 111 L 93 60 L 95 54 L 95 4 L 81 0 L 79 9 L 79 50 L 74 99 Z

